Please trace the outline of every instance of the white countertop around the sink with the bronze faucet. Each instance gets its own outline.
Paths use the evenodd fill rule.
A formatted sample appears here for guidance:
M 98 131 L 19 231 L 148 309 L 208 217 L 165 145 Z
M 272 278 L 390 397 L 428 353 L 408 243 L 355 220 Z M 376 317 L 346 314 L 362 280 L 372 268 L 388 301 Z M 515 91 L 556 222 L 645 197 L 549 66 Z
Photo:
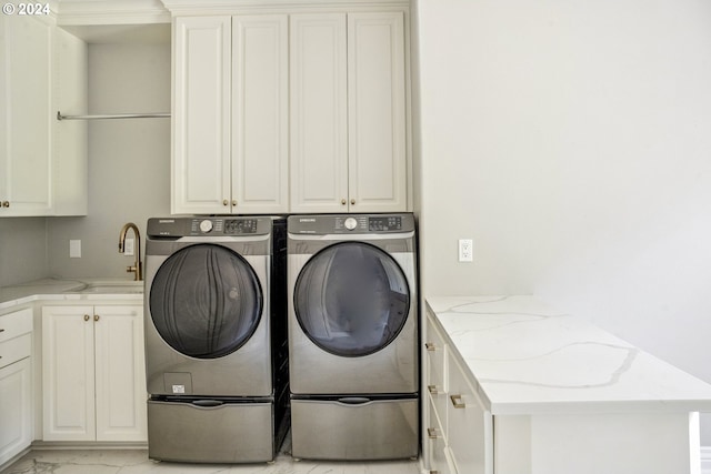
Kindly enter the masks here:
M 87 286 L 97 285 L 87 290 Z M 122 291 L 122 289 L 126 291 Z M 0 310 L 33 301 L 143 301 L 142 282 L 128 280 L 44 279 L 33 282 L 0 288 Z M 101 289 L 106 289 L 102 292 Z

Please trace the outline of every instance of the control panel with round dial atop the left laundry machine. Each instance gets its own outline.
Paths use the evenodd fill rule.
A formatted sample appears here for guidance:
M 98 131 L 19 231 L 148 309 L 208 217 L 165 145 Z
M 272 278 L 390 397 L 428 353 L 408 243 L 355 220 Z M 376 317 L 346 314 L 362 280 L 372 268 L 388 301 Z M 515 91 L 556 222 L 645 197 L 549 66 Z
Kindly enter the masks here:
M 152 218 L 148 220 L 148 235 L 181 238 L 194 235 L 263 235 L 271 231 L 270 218 Z

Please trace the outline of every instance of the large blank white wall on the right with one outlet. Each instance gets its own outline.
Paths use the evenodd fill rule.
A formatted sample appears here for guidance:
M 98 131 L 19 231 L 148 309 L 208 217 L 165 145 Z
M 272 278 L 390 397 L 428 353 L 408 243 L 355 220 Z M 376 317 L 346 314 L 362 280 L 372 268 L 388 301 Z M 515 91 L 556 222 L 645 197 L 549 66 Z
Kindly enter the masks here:
M 424 294 L 534 293 L 711 382 L 711 2 L 417 3 Z

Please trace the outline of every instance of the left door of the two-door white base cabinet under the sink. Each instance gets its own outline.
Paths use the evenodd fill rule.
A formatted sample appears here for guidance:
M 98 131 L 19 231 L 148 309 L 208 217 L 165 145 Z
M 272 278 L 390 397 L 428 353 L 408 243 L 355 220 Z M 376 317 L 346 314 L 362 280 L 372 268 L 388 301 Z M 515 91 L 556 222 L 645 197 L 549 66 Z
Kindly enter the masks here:
M 93 441 L 93 309 L 42 309 L 43 440 Z

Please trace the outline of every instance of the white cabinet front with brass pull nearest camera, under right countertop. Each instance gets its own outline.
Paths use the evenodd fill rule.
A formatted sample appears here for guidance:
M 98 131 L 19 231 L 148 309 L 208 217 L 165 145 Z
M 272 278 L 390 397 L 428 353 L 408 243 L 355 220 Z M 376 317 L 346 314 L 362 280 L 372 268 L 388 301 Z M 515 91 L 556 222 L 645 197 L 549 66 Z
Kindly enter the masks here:
M 459 362 L 448 353 L 447 442 L 457 472 L 493 472 L 493 418 Z

